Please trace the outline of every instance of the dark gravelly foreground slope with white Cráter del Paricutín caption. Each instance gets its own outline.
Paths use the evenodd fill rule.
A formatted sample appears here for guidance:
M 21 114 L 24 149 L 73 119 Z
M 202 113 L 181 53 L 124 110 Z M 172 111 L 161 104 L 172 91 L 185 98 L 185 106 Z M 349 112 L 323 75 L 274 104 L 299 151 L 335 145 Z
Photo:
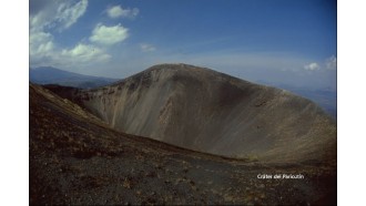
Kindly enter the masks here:
M 29 142 L 30 205 L 336 204 L 335 167 L 246 163 L 126 135 L 37 85 Z

